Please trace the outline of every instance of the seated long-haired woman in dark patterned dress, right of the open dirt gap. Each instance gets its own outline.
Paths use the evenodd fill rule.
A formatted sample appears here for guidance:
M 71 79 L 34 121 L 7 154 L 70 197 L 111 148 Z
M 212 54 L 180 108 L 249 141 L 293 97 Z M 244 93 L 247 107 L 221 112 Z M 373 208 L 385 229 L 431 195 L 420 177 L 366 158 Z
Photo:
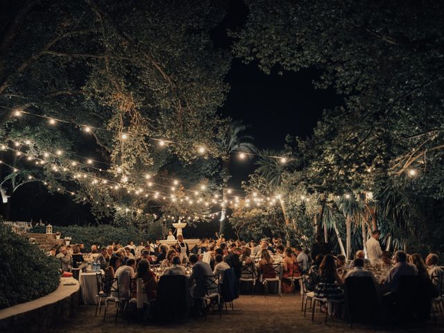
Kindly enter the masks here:
M 325 255 L 321 266 L 319 266 L 319 283 L 314 289 L 314 295 L 319 298 L 328 298 L 330 300 L 340 300 L 343 298 L 341 285 L 343 281 L 336 271 L 334 257 Z

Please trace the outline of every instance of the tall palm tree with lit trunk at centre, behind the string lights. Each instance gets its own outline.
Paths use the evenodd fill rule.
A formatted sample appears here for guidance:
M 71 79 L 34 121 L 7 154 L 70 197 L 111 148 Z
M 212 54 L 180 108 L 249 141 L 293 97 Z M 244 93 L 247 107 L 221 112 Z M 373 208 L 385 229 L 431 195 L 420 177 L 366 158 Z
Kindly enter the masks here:
M 256 147 L 250 142 L 253 139 L 250 135 L 242 134 L 246 130 L 246 126 L 241 121 L 232 121 L 230 126 L 225 130 L 219 140 L 219 150 L 222 156 L 222 182 L 223 182 L 223 198 L 225 203 L 227 193 L 226 187 L 230 180 L 230 160 L 233 153 L 244 153 L 246 157 L 251 157 L 251 153 L 255 153 Z M 223 204 L 221 211 L 221 219 L 219 225 L 219 234 L 225 231 L 226 207 Z

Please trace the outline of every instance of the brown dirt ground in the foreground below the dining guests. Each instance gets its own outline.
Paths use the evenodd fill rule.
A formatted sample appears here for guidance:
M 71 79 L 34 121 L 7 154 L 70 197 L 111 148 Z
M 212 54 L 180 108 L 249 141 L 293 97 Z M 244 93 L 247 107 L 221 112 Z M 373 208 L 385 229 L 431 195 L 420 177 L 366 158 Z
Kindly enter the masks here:
M 95 307 L 90 305 L 80 306 L 78 314 L 69 323 L 54 327 L 51 332 L 79 333 L 79 332 L 106 332 L 106 333 L 133 333 L 133 332 L 199 332 L 199 333 L 223 333 L 223 332 L 304 332 L 304 333 L 329 333 L 329 332 L 366 332 L 373 333 L 373 327 L 355 325 L 353 330 L 347 323 L 330 322 L 324 325 L 324 316 L 317 313 L 315 323 L 311 323 L 309 316 L 304 317 L 300 311 L 300 296 L 241 296 L 234 301 L 234 311 L 223 314 L 210 314 L 205 318 L 187 318 L 181 324 L 153 325 L 151 323 L 128 323 L 119 318 L 114 324 L 114 318 L 110 311 L 110 318 L 103 323 L 103 316 L 94 316 Z M 438 318 L 438 324 L 433 321 L 427 325 L 415 327 L 377 327 L 378 332 L 444 332 L 444 320 Z

